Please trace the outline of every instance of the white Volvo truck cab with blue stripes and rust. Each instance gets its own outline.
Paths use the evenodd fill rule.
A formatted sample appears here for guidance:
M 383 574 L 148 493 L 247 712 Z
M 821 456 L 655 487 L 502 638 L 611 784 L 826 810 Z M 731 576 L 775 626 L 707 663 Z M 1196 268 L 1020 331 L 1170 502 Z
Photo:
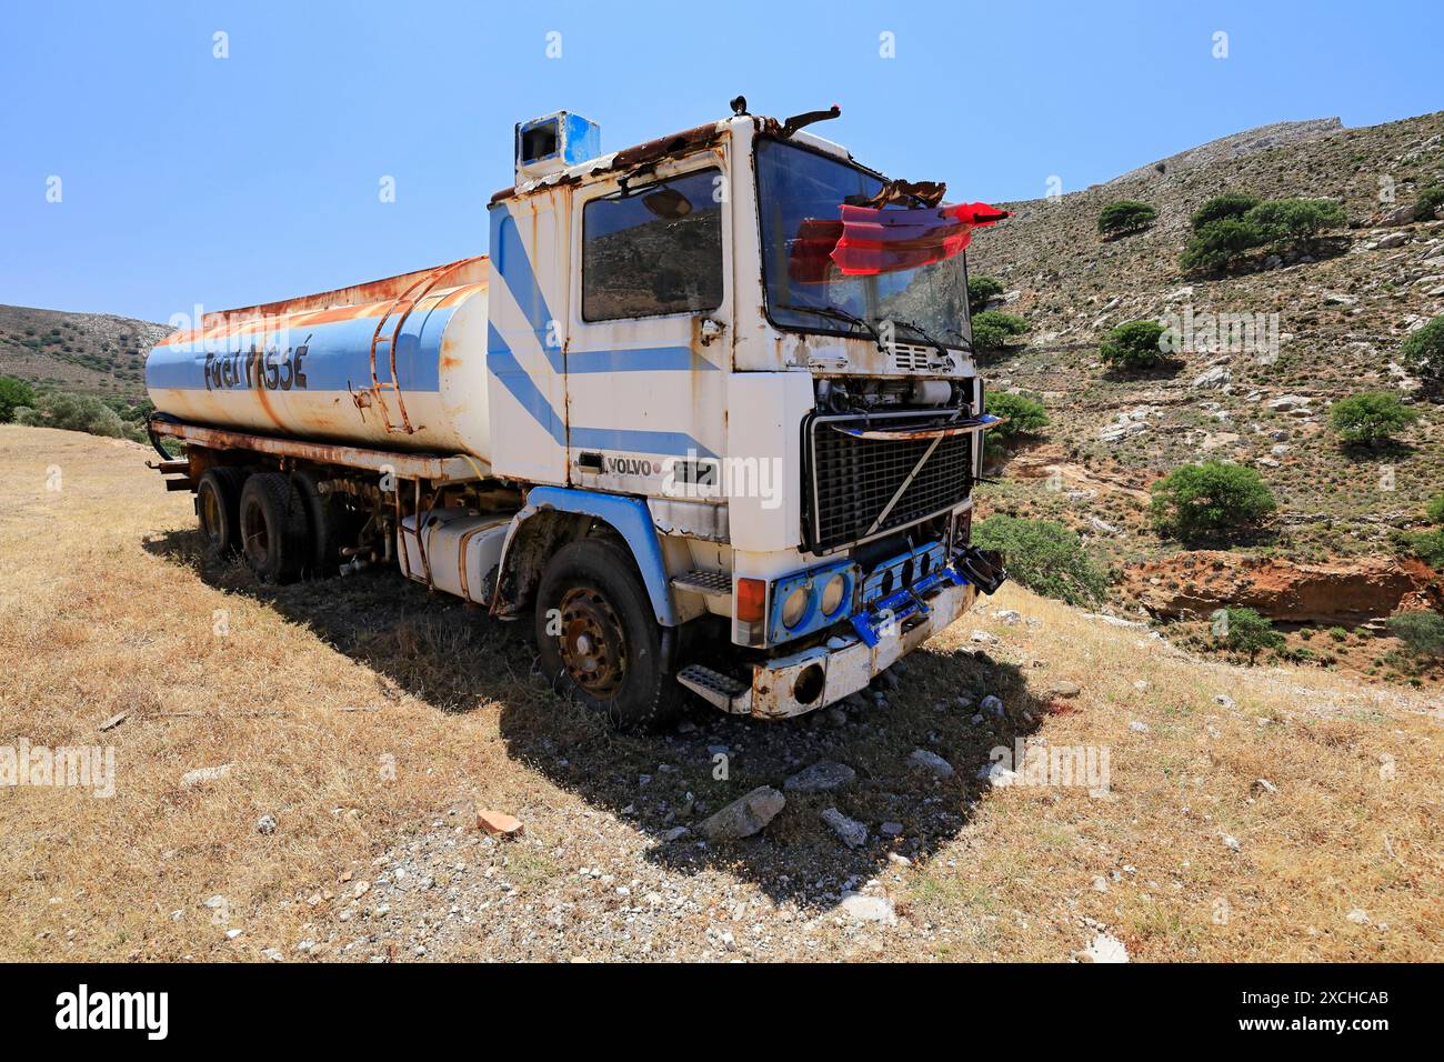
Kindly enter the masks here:
M 680 685 L 761 717 L 838 701 L 1002 578 L 967 545 L 993 419 L 966 256 L 839 269 L 842 207 L 927 204 L 797 120 L 598 140 L 575 114 L 523 123 L 491 199 L 494 470 L 539 484 L 534 511 L 644 506 L 624 539 L 657 623 L 687 633 L 663 646 Z M 504 579 L 494 607 L 531 591 Z M 543 662 L 605 699 L 611 620 L 534 604 Z

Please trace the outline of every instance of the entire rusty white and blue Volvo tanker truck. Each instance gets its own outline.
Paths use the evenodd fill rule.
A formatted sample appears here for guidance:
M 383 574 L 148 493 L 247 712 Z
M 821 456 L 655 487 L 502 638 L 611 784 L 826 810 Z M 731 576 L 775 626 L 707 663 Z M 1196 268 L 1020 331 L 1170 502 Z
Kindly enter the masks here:
M 969 545 L 996 419 L 963 249 L 1006 215 L 803 129 L 836 116 L 738 98 L 611 155 L 517 126 L 490 256 L 163 340 L 155 467 L 263 579 L 396 564 L 533 617 L 621 725 L 862 689 L 1005 578 Z

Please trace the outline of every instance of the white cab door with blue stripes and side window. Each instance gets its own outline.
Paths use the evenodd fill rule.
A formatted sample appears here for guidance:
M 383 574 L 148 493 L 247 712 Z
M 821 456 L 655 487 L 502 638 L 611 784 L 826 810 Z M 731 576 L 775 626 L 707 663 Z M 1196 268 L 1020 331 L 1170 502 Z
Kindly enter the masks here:
M 677 496 L 674 480 L 718 475 L 732 350 L 725 159 L 719 147 L 576 192 L 566 350 L 576 485 Z

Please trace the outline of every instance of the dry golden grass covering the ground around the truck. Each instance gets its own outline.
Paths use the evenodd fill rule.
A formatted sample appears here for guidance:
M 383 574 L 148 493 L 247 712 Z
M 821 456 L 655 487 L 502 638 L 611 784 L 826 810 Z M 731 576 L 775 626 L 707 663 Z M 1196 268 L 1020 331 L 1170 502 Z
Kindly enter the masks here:
M 1203 663 L 1008 588 L 992 605 L 1030 623 L 988 613 L 936 639 L 885 725 L 853 735 L 695 717 L 703 730 L 728 727 L 734 744 L 741 735 L 761 750 L 856 761 L 875 785 L 845 811 L 865 815 L 885 796 L 892 809 L 915 802 L 921 819 L 923 800 L 941 800 L 957 825 L 930 835 L 914 865 L 895 868 L 881 850 L 835 855 L 840 845 L 807 800 L 790 802 L 775 838 L 702 865 L 667 861 L 645 808 L 641 819 L 618 809 L 637 799 L 638 772 L 684 760 L 677 738 L 612 738 L 537 688 L 520 636 L 399 578 L 261 591 L 238 571 L 201 572 L 191 498 L 163 493 L 144 459 L 131 444 L 0 428 L 0 746 L 114 744 L 117 767 L 111 799 L 0 789 L 3 958 L 256 958 L 269 945 L 293 957 L 302 936 L 342 928 L 344 878 L 458 805 L 526 819 L 530 847 L 507 857 L 520 896 L 508 918 L 523 929 L 536 928 L 521 922 L 533 906 L 539 920 L 579 889 L 578 865 L 601 865 L 593 841 L 628 867 L 619 874 L 645 864 L 658 881 L 708 893 L 664 929 L 667 954 L 683 958 L 708 952 L 708 928 L 739 899 L 804 907 L 778 881 L 845 857 L 877 876 L 901 925 L 859 941 L 829 916 L 807 929 L 806 948 L 760 955 L 1064 959 L 1093 919 L 1139 959 L 1444 958 L 1444 772 L 1437 705 L 1421 695 L 1362 691 L 1317 669 Z M 61 490 L 48 490 L 53 470 Z M 959 652 L 973 627 L 1004 639 L 996 662 Z M 952 787 L 884 777 L 928 733 L 954 763 L 985 761 L 991 741 L 967 737 L 966 714 L 933 705 L 1005 675 L 1017 681 L 1005 699 L 1019 733 L 1110 750 L 1109 796 L 986 790 L 965 766 Z M 1061 678 L 1083 692 L 1045 712 L 1044 691 Z M 1034 718 L 1018 718 L 1030 708 Z M 98 733 L 117 712 L 126 721 Z M 228 777 L 180 785 L 185 772 L 224 763 Z M 683 764 L 699 795 L 706 763 Z M 787 772 L 761 754 L 745 767 L 735 786 Z M 1261 777 L 1276 793 L 1259 792 Z M 276 816 L 273 834 L 257 832 L 261 815 Z M 1093 890 L 1110 871 L 1119 880 Z M 215 894 L 241 938 L 228 941 L 201 906 Z M 1373 925 L 1349 922 L 1356 907 Z M 755 918 L 749 909 L 747 923 Z M 487 939 L 451 954 L 510 957 Z M 632 944 L 514 954 L 627 957 Z

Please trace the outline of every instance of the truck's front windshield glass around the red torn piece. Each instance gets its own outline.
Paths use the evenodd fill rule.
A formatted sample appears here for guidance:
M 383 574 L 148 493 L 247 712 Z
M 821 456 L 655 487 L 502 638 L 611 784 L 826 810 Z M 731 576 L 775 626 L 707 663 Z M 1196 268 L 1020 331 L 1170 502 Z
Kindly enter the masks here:
M 768 316 L 783 328 L 866 334 L 843 321 L 842 314 L 806 309 L 820 306 L 869 324 L 892 321 L 900 340 L 911 340 L 910 332 L 921 329 L 931 340 L 957 347 L 967 319 L 962 254 L 875 276 L 848 276 L 826 260 L 820 272 L 796 267 L 799 241 L 807 231 L 803 223 L 836 221 L 843 202 L 864 202 L 881 186 L 877 176 L 840 159 L 781 140 L 758 142 L 757 197 Z

